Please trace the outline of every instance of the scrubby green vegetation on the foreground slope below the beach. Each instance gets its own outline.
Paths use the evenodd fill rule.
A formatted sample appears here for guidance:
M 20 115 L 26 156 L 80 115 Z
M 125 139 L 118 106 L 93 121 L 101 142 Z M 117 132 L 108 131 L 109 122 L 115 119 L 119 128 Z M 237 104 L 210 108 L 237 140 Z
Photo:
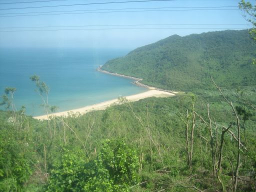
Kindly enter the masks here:
M 253 101 L 255 92 L 248 90 L 248 93 L 246 100 Z M 236 92 L 225 90 L 224 94 L 233 95 L 229 98 L 236 100 L 237 106 L 243 106 Z M 16 112 L 14 123 L 12 112 L 1 111 L 0 190 L 196 191 L 193 187 L 221 190 L 211 167 L 210 133 L 199 117 L 195 119 L 191 168 L 187 164 L 183 122 L 186 109 L 191 115 L 194 102 L 194 111 L 206 120 L 207 100 L 210 100 L 210 117 L 215 116 L 218 127 L 218 143 L 222 126 L 229 123 L 237 135 L 232 111 L 217 91 L 203 98 L 190 93 L 147 98 L 78 117 L 54 118 L 49 124 L 20 112 Z M 243 136 L 246 136 L 248 151 L 241 149 L 244 163 L 239 170 L 237 191 L 255 190 L 255 122 L 253 115 L 244 123 L 242 143 L 245 144 Z M 213 121 L 211 124 L 214 127 Z M 213 132 L 216 136 L 215 128 Z M 224 135 L 221 179 L 227 190 L 232 187 L 229 159 L 234 166 L 236 144 L 229 133 Z

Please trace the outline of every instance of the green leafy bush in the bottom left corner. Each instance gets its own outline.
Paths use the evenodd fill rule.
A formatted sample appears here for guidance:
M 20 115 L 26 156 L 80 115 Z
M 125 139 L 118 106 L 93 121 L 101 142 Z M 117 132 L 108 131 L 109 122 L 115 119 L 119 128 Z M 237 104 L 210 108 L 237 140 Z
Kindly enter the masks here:
M 0 128 L 0 191 L 21 191 L 32 173 L 29 146 L 20 138 L 13 126 Z

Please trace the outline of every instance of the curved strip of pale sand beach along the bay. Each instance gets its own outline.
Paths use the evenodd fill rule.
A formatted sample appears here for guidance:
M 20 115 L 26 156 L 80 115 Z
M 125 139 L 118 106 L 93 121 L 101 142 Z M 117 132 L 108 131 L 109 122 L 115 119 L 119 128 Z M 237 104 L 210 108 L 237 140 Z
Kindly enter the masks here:
M 133 95 L 129 95 L 129 96 L 124 96 L 128 101 L 136 101 L 142 98 L 147 98 L 147 97 L 168 97 L 168 96 L 173 96 L 175 95 L 174 93 L 171 92 L 167 92 L 167 91 L 162 91 L 162 90 L 148 90 L 142 93 L 138 93 L 138 94 L 133 94 Z M 55 113 L 51 113 L 48 116 L 68 116 L 69 114 L 84 114 L 86 112 L 92 111 L 92 110 L 103 110 L 106 107 L 112 105 L 112 104 L 119 104 L 118 103 L 118 99 L 112 99 L 112 100 L 107 100 L 104 102 L 100 102 L 97 104 L 92 104 L 92 105 L 88 105 L 88 106 L 84 106 L 81 108 L 76 108 L 76 109 L 71 109 L 71 110 L 66 110 L 66 111 L 62 111 L 62 112 L 55 112 Z M 41 116 L 34 116 L 33 118 L 35 119 L 47 119 L 47 115 L 41 115 Z

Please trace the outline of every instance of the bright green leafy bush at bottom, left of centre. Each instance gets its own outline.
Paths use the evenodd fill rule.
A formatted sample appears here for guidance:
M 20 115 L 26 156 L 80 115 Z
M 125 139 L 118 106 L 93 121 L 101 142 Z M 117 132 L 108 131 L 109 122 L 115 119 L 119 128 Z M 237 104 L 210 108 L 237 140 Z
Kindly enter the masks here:
M 123 139 L 104 140 L 94 160 L 81 150 L 64 149 L 52 170 L 47 191 L 128 191 L 138 182 L 136 151 Z

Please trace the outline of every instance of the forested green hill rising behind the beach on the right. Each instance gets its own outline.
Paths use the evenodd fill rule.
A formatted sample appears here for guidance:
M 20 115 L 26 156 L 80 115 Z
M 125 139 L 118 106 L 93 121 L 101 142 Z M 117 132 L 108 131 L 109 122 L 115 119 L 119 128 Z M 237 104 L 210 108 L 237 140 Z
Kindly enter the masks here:
M 143 78 L 173 90 L 207 89 L 210 76 L 222 87 L 254 85 L 256 43 L 248 30 L 172 35 L 107 61 L 102 69 Z

